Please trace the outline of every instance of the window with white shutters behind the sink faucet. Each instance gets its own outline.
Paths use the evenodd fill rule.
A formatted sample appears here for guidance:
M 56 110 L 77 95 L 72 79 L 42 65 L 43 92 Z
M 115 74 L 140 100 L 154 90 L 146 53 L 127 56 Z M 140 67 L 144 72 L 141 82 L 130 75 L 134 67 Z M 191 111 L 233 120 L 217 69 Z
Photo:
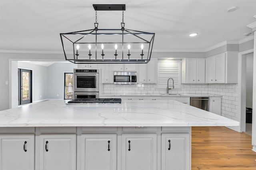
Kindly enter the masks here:
M 166 88 L 168 78 L 173 78 L 174 88 L 180 88 L 181 80 L 181 61 L 180 60 L 158 60 L 158 88 Z M 172 85 L 172 80 L 169 80 L 169 84 Z

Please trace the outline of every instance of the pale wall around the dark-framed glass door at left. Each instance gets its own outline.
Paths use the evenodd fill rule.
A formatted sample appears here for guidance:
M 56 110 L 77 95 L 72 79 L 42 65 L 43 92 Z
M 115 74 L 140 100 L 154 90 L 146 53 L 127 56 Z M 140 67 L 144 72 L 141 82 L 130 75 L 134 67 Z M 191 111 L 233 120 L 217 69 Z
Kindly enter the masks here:
M 33 70 L 32 71 L 33 102 L 46 99 L 47 98 L 47 67 L 40 66 L 37 64 L 18 62 L 18 68 L 26 68 L 28 70 Z

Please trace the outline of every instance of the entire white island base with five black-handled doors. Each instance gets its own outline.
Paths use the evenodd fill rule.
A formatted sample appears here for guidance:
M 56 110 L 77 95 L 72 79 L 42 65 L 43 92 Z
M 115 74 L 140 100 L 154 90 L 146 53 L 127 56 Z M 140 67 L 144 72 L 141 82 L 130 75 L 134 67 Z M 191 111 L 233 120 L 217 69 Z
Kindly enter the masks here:
M 0 127 L 0 146 L 1 170 L 191 169 L 191 127 Z

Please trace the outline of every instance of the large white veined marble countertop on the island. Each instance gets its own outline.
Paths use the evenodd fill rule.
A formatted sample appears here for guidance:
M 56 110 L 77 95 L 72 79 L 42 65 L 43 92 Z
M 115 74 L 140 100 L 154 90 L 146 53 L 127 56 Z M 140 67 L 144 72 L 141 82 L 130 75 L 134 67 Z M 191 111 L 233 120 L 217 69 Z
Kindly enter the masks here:
M 0 111 L 0 127 L 238 126 L 239 122 L 175 100 L 123 100 L 121 105 L 66 105 L 46 100 Z

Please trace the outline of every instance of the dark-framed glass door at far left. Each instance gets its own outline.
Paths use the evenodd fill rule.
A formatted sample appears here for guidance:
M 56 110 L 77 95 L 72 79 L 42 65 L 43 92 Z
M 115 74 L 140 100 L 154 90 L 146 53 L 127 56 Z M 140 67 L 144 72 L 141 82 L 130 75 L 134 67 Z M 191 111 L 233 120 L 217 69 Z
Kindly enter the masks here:
M 32 70 L 18 69 L 19 105 L 32 103 Z

